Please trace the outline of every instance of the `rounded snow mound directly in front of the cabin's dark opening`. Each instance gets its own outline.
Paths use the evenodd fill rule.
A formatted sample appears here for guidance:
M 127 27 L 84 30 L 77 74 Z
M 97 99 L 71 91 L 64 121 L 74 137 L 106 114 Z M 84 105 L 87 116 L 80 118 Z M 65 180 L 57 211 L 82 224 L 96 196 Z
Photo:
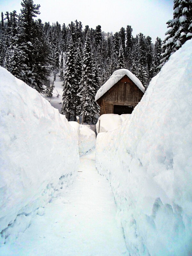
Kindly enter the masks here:
M 99 133 L 99 120 L 100 120 L 100 132 L 108 132 L 117 129 L 122 125 L 131 114 L 104 114 L 101 115 L 96 124 L 97 133 Z

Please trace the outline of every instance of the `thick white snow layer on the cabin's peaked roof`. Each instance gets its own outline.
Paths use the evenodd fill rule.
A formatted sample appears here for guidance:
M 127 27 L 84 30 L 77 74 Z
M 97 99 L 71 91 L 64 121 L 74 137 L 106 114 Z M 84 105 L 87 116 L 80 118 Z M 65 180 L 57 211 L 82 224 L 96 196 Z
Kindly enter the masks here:
M 109 77 L 109 79 L 107 80 L 107 82 L 105 84 L 103 84 L 99 90 L 97 91 L 96 95 L 95 95 L 95 100 L 98 100 L 101 96 L 103 96 L 103 94 L 105 94 L 114 84 L 116 84 L 122 77 L 124 77 L 125 75 L 127 75 L 134 84 L 137 85 L 137 87 L 144 93 L 145 92 L 145 88 L 142 85 L 141 81 L 139 80 L 139 78 L 137 78 L 135 75 L 133 75 L 131 73 L 131 71 L 129 71 L 128 69 L 122 68 L 122 69 L 118 69 L 115 72 L 113 72 L 113 74 Z

